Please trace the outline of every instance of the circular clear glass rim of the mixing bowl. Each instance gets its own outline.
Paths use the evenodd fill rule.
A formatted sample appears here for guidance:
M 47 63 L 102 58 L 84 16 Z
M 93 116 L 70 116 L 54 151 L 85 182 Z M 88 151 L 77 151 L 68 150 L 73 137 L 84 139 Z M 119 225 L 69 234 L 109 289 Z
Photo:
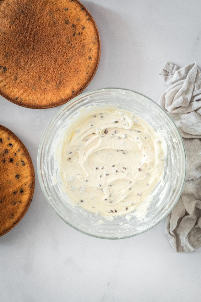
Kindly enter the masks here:
M 171 208 L 166 211 L 158 221 L 156 221 L 152 226 L 150 226 L 149 228 L 147 228 L 146 230 L 143 230 L 143 231 L 140 231 L 138 233 L 135 233 L 133 235 L 129 235 L 129 236 L 122 236 L 122 237 L 106 237 L 106 236 L 98 236 L 98 235 L 94 235 L 94 234 L 91 234 L 89 232 L 84 232 L 82 230 L 80 230 L 78 227 L 76 226 L 73 226 L 71 223 L 69 223 L 68 221 L 66 221 L 56 210 L 55 208 L 53 207 L 52 203 L 50 202 L 50 197 L 47 195 L 46 193 L 46 190 L 44 189 L 45 187 L 45 184 L 44 182 L 42 181 L 42 177 L 41 177 L 41 155 L 42 155 L 42 148 L 43 148 L 43 145 L 44 145 L 44 140 L 46 138 L 46 133 L 51 129 L 51 126 L 54 124 L 54 122 L 57 120 L 58 116 L 63 112 L 65 111 L 65 109 L 67 109 L 70 105 L 72 105 L 73 103 L 76 104 L 77 101 L 79 101 L 81 98 L 85 98 L 86 96 L 88 95 L 91 95 L 91 94 L 95 94 L 97 92 L 102 92 L 102 91 L 109 91 L 109 90 L 117 90 L 117 91 L 129 91 L 129 92 L 134 92 L 136 94 L 139 94 L 140 96 L 144 97 L 144 98 L 147 98 L 149 101 L 151 101 L 152 103 L 154 103 L 157 107 L 159 107 L 163 113 L 165 113 L 165 115 L 168 116 L 168 118 L 171 120 L 171 123 L 173 124 L 173 126 L 175 127 L 175 130 L 177 131 L 178 133 L 178 137 L 180 138 L 180 141 L 181 141 L 181 147 L 182 147 L 182 152 L 183 152 L 183 155 L 184 155 L 184 175 L 183 175 L 183 182 L 182 182 L 182 185 L 180 187 L 180 190 L 178 191 L 177 193 L 177 196 L 175 198 L 175 202 L 172 204 Z M 153 227 L 155 227 L 157 224 L 159 224 L 165 217 L 167 217 L 167 215 L 169 215 L 169 213 L 171 212 L 171 210 L 174 208 L 174 206 L 177 204 L 179 198 L 181 197 L 181 193 L 182 193 L 182 190 L 183 190 L 183 187 L 184 187 L 184 184 L 185 184 L 185 179 L 186 179 L 186 173 L 187 173 L 187 157 L 186 157 L 186 150 L 185 150 L 185 146 L 184 146 L 184 142 L 183 142 L 183 138 L 181 136 L 181 133 L 177 127 L 177 125 L 175 124 L 175 122 L 173 121 L 173 119 L 171 118 L 171 116 L 167 113 L 167 111 L 165 109 L 163 109 L 158 103 L 156 103 L 154 100 L 152 100 L 151 98 L 147 97 L 146 95 L 140 93 L 140 92 L 137 92 L 135 90 L 132 90 L 132 89 L 128 89 L 128 88 L 121 88 L 121 87 L 105 87 L 105 88 L 99 88 L 99 89 L 95 89 L 95 90 L 90 90 L 90 91 L 87 91 L 87 92 L 83 92 L 81 94 L 79 94 L 78 96 L 72 98 L 71 100 L 69 100 L 67 103 L 65 103 L 64 105 L 62 105 L 62 107 L 56 112 L 56 114 L 52 117 L 52 119 L 50 120 L 50 122 L 47 124 L 44 132 L 43 132 L 43 135 L 41 137 L 41 141 L 40 141 L 40 144 L 39 144 L 39 148 L 38 148 L 38 153 L 37 153 L 37 174 L 38 174 L 38 179 L 39 179 L 39 183 L 40 183 L 40 186 L 41 186 L 41 190 L 43 192 L 43 195 L 45 196 L 46 200 L 48 201 L 48 203 L 51 205 L 52 209 L 54 210 L 54 212 L 65 222 L 67 223 L 69 226 L 73 227 L 73 229 L 85 234 L 85 235 L 89 235 L 91 237 L 95 237 L 95 238 L 100 238 L 100 239 L 111 239 L 111 240 L 115 240 L 115 239 L 125 239 L 125 238 L 132 238 L 134 236 L 137 236 L 139 234 L 142 234 L 144 232 L 147 232 L 149 231 L 150 229 L 152 229 Z

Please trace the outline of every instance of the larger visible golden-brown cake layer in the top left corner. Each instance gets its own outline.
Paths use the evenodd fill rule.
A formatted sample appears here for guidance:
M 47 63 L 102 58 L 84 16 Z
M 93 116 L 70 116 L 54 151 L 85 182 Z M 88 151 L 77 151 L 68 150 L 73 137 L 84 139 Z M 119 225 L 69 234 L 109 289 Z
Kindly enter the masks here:
M 77 0 L 0 0 L 0 94 L 42 109 L 68 102 L 100 59 L 95 21 Z

